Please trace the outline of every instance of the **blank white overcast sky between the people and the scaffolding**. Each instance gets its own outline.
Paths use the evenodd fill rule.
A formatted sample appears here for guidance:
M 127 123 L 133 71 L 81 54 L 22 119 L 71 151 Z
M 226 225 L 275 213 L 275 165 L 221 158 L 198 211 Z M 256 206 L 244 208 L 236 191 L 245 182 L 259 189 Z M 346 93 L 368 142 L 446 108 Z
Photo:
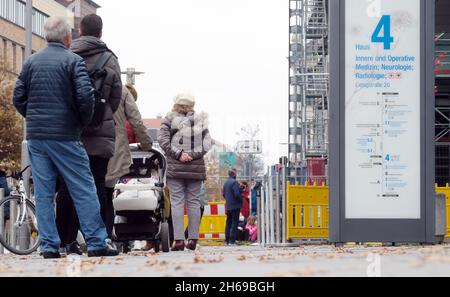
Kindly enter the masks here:
M 144 117 L 165 115 L 179 91 L 210 115 L 228 145 L 261 126 L 266 161 L 285 155 L 288 133 L 288 1 L 96 0 L 103 40 L 122 69 L 135 67 Z

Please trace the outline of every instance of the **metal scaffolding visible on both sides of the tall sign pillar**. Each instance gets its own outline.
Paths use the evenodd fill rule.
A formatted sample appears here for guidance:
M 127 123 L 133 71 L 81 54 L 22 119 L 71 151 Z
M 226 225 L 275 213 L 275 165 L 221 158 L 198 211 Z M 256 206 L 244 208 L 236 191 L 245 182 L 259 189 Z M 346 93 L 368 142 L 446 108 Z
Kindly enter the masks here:
M 308 160 L 328 159 L 328 1 L 289 0 L 290 176 L 309 180 Z M 450 182 L 450 33 L 436 2 L 436 182 Z

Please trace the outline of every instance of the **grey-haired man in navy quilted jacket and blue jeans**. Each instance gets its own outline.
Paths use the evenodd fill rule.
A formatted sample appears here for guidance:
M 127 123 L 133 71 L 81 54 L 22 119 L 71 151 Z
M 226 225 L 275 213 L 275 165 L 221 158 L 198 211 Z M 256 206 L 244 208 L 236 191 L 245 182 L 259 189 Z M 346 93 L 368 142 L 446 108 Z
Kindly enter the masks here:
M 27 121 L 41 251 L 46 259 L 60 257 L 53 208 L 60 174 L 73 197 L 88 255 L 116 256 L 117 250 L 107 239 L 89 159 L 80 142 L 94 106 L 86 65 L 67 49 L 72 30 L 64 18 L 49 18 L 44 29 L 48 47 L 25 62 L 13 98 L 14 106 Z

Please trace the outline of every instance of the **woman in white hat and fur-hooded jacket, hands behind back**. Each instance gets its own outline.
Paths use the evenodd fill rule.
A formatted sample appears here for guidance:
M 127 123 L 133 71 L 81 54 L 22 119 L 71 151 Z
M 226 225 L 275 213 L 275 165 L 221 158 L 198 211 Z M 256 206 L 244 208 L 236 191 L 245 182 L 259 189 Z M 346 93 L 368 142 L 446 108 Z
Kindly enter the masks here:
M 199 238 L 199 193 L 206 180 L 204 156 L 211 149 L 208 116 L 194 111 L 195 98 L 179 94 L 175 105 L 163 120 L 158 142 L 167 159 L 167 186 L 172 205 L 175 244 L 173 251 L 181 251 L 184 243 L 184 207 L 189 217 L 189 242 L 187 248 L 195 250 Z

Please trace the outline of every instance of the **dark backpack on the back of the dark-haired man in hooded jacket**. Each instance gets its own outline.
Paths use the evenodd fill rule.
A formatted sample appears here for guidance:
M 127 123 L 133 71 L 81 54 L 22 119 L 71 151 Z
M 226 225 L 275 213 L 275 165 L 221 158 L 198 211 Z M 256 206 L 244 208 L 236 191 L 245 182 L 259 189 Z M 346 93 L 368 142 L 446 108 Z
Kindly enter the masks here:
M 105 79 L 108 76 L 108 72 L 105 69 L 106 64 L 111 59 L 113 54 L 111 52 L 105 52 L 97 60 L 94 68 L 89 71 L 89 77 L 91 78 L 92 86 L 94 87 L 94 115 L 92 117 L 91 123 L 89 124 L 89 130 L 97 130 L 101 128 L 103 124 L 103 119 L 105 117 L 106 104 L 108 104 L 108 97 L 103 92 L 103 86 L 105 85 Z

